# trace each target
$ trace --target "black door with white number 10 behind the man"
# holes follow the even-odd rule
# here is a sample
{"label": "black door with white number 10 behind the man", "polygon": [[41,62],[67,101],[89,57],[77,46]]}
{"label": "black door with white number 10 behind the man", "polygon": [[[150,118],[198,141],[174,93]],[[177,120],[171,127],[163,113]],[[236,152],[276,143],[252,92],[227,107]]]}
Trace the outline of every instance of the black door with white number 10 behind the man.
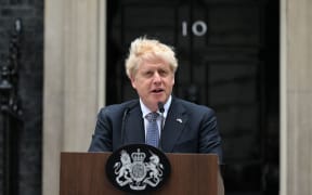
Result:
{"label": "black door with white number 10 behind the man", "polygon": [[129,43],[176,48],[174,95],[217,112],[226,194],[278,192],[278,1],[110,0],[107,104],[136,98],[125,74]]}

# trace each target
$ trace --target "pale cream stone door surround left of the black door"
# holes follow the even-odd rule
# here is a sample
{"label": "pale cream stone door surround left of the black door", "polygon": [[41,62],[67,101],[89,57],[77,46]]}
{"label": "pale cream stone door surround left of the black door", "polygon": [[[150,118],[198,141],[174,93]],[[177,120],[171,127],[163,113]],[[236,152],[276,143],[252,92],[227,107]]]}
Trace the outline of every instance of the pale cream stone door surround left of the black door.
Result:
{"label": "pale cream stone door surround left of the black door", "polygon": [[105,102],[105,0],[44,2],[43,192],[58,194],[61,152],[87,152]]}

